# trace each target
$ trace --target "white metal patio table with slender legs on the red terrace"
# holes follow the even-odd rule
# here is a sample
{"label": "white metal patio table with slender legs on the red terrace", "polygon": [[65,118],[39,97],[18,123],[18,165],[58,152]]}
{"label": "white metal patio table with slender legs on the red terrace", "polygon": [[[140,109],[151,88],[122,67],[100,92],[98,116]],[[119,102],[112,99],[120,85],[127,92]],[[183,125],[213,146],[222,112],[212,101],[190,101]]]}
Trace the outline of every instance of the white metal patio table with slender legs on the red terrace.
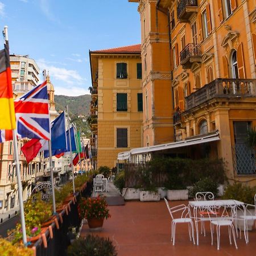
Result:
{"label": "white metal patio table with slender legs on the red terrace", "polygon": [[[199,234],[198,234],[198,222],[203,220],[197,216],[198,209],[209,209],[213,207],[241,207],[243,209],[244,214],[246,214],[245,204],[241,201],[237,200],[205,200],[205,201],[189,201],[189,208],[193,208],[193,217],[195,218],[195,226],[196,226],[196,244],[199,245]],[[207,218],[205,218],[207,220]],[[209,220],[209,218],[208,218]],[[246,222],[244,221],[243,232],[245,234],[245,242],[248,242],[247,238],[247,230],[246,230]]]}

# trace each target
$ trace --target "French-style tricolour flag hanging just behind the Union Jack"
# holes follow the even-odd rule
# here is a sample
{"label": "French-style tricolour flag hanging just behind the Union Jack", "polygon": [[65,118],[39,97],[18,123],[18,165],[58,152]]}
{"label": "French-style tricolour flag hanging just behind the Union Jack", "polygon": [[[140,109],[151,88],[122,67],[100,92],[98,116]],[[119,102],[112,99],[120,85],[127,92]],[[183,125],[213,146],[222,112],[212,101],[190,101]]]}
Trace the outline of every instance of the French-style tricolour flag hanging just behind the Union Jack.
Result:
{"label": "French-style tricolour flag hanging just behind the Union Jack", "polygon": [[[63,112],[51,123],[52,155],[58,155],[64,152],[63,150],[67,150],[65,134],[65,114]],[[48,143],[45,139],[31,139],[22,147],[27,162],[30,162],[41,151],[44,151],[44,157],[49,157],[48,150]]]}

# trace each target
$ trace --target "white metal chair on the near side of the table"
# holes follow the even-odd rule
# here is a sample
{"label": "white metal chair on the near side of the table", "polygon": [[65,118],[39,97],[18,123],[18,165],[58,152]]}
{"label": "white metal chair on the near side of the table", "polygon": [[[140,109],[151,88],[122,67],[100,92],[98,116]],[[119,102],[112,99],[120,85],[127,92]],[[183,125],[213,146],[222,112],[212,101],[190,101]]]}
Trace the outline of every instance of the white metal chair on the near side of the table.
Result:
{"label": "white metal chair on the near side of the table", "polygon": [[[231,209],[231,211],[230,211]],[[213,229],[214,226],[216,226],[216,236],[217,236],[217,249],[220,250],[220,228],[222,226],[228,226],[229,231],[229,242],[230,245],[232,245],[231,240],[231,232],[234,240],[234,245],[237,249],[237,242],[236,242],[236,234],[235,234],[235,228],[233,225],[234,222],[234,216],[236,214],[236,207],[235,206],[220,206],[220,205],[214,205],[213,208],[208,208],[208,216],[210,220],[210,235],[212,238],[212,245],[213,245]],[[218,212],[218,214],[216,214]],[[229,215],[231,214],[231,216]]]}

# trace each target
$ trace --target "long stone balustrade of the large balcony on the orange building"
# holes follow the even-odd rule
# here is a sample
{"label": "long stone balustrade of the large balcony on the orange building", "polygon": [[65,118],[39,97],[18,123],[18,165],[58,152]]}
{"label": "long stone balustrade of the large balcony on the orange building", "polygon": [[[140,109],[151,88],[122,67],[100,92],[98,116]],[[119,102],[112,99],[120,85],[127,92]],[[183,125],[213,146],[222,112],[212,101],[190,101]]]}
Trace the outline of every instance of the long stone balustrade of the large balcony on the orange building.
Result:
{"label": "long stone balustrade of the large balcony on the orange building", "polygon": [[256,79],[216,79],[186,97],[185,110],[216,97],[256,97]]}

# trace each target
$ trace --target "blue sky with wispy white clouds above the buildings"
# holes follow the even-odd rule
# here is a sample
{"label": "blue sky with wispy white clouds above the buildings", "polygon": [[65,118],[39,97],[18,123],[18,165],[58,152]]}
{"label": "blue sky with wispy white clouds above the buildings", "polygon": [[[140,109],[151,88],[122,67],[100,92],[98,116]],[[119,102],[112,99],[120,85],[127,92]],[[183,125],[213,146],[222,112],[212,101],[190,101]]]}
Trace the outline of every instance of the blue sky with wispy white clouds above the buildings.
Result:
{"label": "blue sky with wispy white clouds above the buildings", "polygon": [[78,96],[89,94],[89,49],[141,43],[137,8],[128,0],[0,0],[0,31],[9,27],[10,53],[49,71],[55,94]]}

